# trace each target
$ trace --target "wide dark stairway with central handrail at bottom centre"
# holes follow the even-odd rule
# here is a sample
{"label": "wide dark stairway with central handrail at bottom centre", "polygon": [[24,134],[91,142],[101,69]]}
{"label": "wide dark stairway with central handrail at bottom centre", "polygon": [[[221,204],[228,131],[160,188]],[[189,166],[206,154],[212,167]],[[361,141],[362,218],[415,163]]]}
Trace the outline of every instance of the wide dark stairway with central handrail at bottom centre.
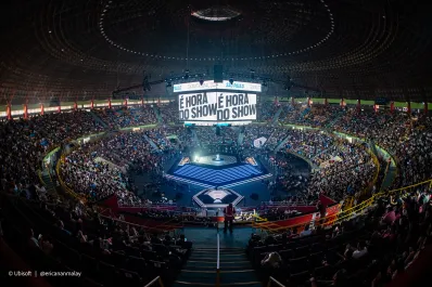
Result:
{"label": "wide dark stairway with central handrail at bottom centre", "polygon": [[[261,287],[244,248],[220,249],[220,286]],[[216,248],[194,248],[173,287],[216,286]]]}

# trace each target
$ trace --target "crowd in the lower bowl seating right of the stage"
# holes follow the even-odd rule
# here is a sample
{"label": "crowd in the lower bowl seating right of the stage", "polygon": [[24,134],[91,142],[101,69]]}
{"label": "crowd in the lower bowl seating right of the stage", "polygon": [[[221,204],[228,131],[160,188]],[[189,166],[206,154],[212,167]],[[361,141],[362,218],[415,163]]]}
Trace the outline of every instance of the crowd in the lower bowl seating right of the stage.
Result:
{"label": "crowd in the lower bowl seating right of the stage", "polygon": [[[270,157],[278,175],[277,184],[288,191],[297,191],[305,201],[317,200],[321,193],[335,199],[353,195],[367,187],[377,172],[366,147],[320,131],[277,128],[271,138],[278,145],[284,142],[279,155]],[[289,154],[307,158],[316,170],[309,178],[293,175]]]}

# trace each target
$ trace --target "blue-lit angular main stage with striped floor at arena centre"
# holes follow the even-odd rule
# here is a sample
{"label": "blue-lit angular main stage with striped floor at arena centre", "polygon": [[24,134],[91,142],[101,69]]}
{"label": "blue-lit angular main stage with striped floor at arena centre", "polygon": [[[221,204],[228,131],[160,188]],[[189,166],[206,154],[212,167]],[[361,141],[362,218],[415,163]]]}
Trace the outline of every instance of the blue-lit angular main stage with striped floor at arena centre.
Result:
{"label": "blue-lit angular main stage with striped floor at arena centre", "polygon": [[[200,160],[182,166],[175,165],[165,177],[204,187],[231,187],[271,177],[263,166],[238,162],[233,156],[220,155],[224,160],[214,165],[212,164],[215,161],[213,160],[215,158],[214,155],[201,158],[205,158],[203,160],[205,164]],[[219,165],[225,159],[231,164]],[[185,162],[185,160],[181,159],[180,162]]]}

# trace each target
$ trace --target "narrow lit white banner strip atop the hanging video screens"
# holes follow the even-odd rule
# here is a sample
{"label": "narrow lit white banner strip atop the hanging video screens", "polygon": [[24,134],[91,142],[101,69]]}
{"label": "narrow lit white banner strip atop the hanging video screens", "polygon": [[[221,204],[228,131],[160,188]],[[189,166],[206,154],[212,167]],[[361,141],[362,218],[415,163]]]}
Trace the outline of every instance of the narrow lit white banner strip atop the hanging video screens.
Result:
{"label": "narrow lit white banner strip atop the hanging video screens", "polygon": [[199,81],[194,82],[185,82],[174,84],[174,92],[192,92],[192,91],[204,91],[204,90],[234,90],[234,91],[250,91],[250,92],[261,92],[262,87],[261,83],[256,82],[243,82],[243,81],[233,81],[230,83],[225,80],[223,82],[214,82],[213,80],[204,81],[201,84]]}

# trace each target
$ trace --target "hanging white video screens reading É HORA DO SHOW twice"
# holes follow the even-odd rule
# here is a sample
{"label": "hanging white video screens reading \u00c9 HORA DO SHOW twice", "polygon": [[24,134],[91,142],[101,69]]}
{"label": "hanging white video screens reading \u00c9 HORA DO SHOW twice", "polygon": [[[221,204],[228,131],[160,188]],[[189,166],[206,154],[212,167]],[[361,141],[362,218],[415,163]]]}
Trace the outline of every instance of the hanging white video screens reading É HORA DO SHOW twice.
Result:
{"label": "hanging white video screens reading \u00c9 HORA DO SHOW twice", "polygon": [[179,95],[182,121],[256,120],[256,94],[201,92]]}

